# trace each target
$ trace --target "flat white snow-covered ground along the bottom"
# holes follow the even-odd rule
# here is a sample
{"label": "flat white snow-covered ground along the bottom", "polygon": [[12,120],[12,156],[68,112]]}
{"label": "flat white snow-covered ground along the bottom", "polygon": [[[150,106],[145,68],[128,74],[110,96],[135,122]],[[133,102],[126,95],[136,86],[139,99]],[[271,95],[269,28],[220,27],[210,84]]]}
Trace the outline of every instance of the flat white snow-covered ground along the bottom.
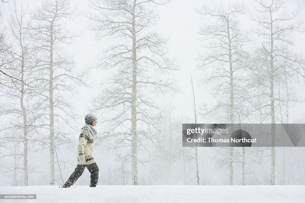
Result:
{"label": "flat white snow-covered ground along the bottom", "polygon": [[305,186],[27,186],[0,187],[0,194],[37,194],[36,200],[0,202],[107,203],[297,203],[305,202]]}

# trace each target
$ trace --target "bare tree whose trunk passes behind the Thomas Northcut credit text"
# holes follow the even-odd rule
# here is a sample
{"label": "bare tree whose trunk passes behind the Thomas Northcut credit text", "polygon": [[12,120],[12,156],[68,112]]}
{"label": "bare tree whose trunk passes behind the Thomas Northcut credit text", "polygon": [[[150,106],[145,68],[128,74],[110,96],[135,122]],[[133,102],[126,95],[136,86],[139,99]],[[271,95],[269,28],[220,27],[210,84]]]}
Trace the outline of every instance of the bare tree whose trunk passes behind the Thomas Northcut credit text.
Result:
{"label": "bare tree whose trunk passes behind the Thomas Northcut credit text", "polygon": [[[231,3],[228,8],[224,5],[202,6],[197,12],[205,19],[205,25],[200,28],[201,40],[206,43],[206,51],[199,54],[198,70],[202,71],[202,84],[214,84],[213,95],[220,95],[218,103],[202,114],[218,115],[221,122],[233,124],[235,105],[243,97],[246,89],[243,72],[246,70],[246,49],[249,42],[246,31],[240,30],[237,17],[246,13],[244,3]],[[208,20],[209,19],[209,20]],[[207,23],[210,22],[210,23]],[[226,102],[228,101],[228,102]],[[240,103],[241,105],[242,103]],[[228,119],[226,119],[228,118]],[[230,131],[234,131],[230,128]],[[229,148],[230,157],[234,155],[234,148]],[[229,184],[233,184],[233,160],[229,162]]]}

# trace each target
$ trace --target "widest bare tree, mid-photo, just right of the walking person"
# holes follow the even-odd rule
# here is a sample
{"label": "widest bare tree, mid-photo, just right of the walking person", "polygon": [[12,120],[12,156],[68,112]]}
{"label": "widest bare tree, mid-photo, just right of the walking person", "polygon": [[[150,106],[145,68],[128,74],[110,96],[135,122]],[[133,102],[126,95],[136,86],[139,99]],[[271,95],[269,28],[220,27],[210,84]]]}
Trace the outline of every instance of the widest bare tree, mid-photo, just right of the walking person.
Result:
{"label": "widest bare tree, mid-photo, just right of the walking person", "polygon": [[124,159],[131,159],[132,185],[138,185],[138,149],[144,148],[145,140],[155,143],[152,138],[159,131],[157,95],[176,91],[171,78],[172,71],[178,68],[166,57],[167,40],[149,30],[157,19],[153,7],[166,3],[159,0],[89,3],[92,8],[87,15],[92,20],[89,29],[96,31],[97,39],[109,37],[117,42],[105,51],[106,56],[99,58],[98,67],[114,74],[109,82],[104,82],[105,89],[93,103],[96,109],[109,113],[103,119],[109,126],[105,138],[115,138],[116,146],[131,148]]}

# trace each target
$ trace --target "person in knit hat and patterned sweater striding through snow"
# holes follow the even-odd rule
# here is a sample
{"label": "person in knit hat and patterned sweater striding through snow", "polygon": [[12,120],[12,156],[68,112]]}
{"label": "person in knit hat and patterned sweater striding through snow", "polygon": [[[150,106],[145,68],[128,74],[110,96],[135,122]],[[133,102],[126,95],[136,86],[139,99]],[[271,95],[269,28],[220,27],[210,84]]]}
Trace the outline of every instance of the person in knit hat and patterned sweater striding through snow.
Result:
{"label": "person in knit hat and patterned sweater striding through snow", "polygon": [[81,128],[81,135],[79,136],[79,143],[77,146],[78,157],[77,166],[74,172],[70,175],[68,180],[63,184],[62,187],[70,187],[73,185],[81,174],[83,174],[85,167],[91,173],[90,175],[90,187],[96,187],[99,180],[99,167],[96,165],[93,154],[93,140],[97,134],[93,128],[96,126],[97,118],[94,114],[87,114],[85,116],[85,125]]}

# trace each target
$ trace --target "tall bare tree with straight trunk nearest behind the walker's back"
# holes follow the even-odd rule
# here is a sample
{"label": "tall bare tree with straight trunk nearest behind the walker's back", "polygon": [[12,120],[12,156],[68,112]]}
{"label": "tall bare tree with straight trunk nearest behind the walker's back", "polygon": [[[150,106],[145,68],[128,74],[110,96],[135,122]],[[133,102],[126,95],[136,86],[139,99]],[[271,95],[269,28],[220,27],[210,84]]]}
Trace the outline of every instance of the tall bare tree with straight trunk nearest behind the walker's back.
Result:
{"label": "tall bare tree with straight trunk nearest behind the walker's back", "polygon": [[[46,128],[48,121],[49,136],[43,142],[48,143],[50,149],[50,185],[55,184],[55,147],[70,143],[68,135],[75,131],[69,122],[75,118],[69,96],[73,96],[77,85],[85,85],[84,75],[75,73],[72,57],[63,51],[63,44],[72,43],[78,36],[65,29],[67,19],[75,17],[74,11],[67,0],[43,1],[42,7],[35,12],[32,26],[32,35],[41,51],[41,75],[47,84],[36,94],[41,98],[37,103],[41,115],[39,125]],[[69,129],[63,128],[64,125]]]}

